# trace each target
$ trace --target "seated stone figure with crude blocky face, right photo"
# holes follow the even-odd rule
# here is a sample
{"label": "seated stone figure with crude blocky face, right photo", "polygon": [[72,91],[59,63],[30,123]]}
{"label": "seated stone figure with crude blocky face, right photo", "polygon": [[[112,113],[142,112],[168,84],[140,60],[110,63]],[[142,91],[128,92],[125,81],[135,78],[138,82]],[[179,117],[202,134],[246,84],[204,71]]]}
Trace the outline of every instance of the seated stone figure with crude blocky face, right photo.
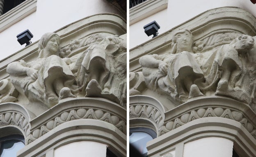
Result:
{"label": "seated stone figure with crude blocky face, right photo", "polygon": [[204,75],[192,55],[192,33],[187,29],[177,31],[172,41],[171,53],[139,59],[146,84],[172,97],[178,96],[181,102],[188,97],[203,96],[197,84],[204,81]]}

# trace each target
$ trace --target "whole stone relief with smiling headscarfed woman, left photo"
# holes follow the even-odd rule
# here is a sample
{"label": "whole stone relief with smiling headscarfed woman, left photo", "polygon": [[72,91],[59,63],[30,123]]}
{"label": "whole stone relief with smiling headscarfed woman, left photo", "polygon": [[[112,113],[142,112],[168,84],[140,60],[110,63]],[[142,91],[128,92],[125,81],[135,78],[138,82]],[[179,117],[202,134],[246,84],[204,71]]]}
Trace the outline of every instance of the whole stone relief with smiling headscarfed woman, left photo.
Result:
{"label": "whole stone relief with smiling headscarfed woman, left photo", "polygon": [[103,97],[126,104],[126,35],[97,33],[60,48],[60,37],[46,33],[39,56],[7,66],[10,82],[30,102],[54,106],[65,98]]}

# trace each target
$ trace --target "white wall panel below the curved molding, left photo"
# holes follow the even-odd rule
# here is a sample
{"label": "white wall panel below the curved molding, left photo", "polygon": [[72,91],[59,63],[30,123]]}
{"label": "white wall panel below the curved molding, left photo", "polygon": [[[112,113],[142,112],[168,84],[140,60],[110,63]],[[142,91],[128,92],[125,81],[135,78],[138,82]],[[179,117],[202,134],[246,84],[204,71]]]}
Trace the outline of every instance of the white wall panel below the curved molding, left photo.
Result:
{"label": "white wall panel below the curved molding, left photo", "polygon": [[72,142],[55,149],[54,157],[105,157],[106,153],[106,144],[80,141]]}

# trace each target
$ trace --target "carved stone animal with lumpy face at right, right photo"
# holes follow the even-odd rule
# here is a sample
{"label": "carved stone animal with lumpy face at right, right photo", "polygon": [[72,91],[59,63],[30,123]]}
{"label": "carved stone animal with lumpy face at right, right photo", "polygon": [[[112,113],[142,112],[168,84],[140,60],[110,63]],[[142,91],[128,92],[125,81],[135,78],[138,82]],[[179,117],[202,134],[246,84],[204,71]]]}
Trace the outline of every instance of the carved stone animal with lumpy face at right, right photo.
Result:
{"label": "carved stone animal with lumpy face at right, right photo", "polygon": [[250,102],[249,50],[253,46],[253,37],[241,35],[231,44],[222,45],[217,50],[211,69],[214,78],[212,82],[219,80],[216,95],[227,95],[235,99],[239,99],[238,95],[242,95],[242,101]]}

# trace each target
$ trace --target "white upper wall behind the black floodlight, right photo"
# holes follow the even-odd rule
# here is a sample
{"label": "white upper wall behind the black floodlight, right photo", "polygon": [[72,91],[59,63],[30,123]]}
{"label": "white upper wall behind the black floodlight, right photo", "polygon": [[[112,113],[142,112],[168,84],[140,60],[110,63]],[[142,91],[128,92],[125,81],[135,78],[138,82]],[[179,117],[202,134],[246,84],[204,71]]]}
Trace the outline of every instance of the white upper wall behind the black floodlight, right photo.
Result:
{"label": "white upper wall behind the black floodlight, right photo", "polygon": [[166,10],[130,25],[130,49],[152,38],[147,37],[143,26],[153,20],[160,25],[158,32],[161,34],[204,11],[219,7],[240,7],[256,16],[256,4],[250,0],[169,0]]}

